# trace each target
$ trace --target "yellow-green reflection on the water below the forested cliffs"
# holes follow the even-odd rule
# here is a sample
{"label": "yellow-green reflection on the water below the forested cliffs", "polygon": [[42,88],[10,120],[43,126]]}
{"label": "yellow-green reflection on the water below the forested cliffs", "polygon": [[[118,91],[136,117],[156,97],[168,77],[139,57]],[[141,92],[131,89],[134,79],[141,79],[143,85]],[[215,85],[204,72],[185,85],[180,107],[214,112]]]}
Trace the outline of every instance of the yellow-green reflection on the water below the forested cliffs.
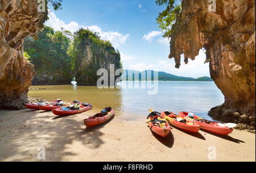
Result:
{"label": "yellow-green reflection on the water below the forested cliffs", "polygon": [[120,89],[100,90],[97,86],[31,86],[31,88],[47,88],[47,90],[30,90],[29,96],[49,101],[57,98],[65,101],[79,100],[92,103],[93,109],[101,111],[105,107],[113,107],[116,112],[122,109],[122,92]]}

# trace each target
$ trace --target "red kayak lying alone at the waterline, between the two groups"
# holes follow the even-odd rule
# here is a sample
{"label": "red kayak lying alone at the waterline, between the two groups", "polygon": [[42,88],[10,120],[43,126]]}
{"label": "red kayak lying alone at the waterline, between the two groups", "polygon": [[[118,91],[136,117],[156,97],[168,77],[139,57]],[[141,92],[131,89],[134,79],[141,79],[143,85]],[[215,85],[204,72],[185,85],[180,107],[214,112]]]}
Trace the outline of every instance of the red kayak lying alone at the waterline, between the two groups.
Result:
{"label": "red kayak lying alone at the waterline, between the two groups", "polygon": [[114,115],[115,115],[114,110],[110,108],[106,112],[97,113],[96,115],[89,117],[88,119],[85,119],[84,124],[88,126],[88,128],[91,128],[98,124],[105,123]]}

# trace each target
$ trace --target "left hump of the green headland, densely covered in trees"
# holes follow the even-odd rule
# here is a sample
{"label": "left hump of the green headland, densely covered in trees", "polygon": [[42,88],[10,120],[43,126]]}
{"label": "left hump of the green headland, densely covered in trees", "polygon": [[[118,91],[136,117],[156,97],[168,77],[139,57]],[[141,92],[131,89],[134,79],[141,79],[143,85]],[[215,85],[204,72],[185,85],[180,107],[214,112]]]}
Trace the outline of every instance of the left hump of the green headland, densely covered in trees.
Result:
{"label": "left hump of the green headland, densely covered in trees", "polygon": [[[24,50],[30,56],[30,61],[35,65],[36,78],[51,78],[51,82],[61,83],[70,81],[71,57],[67,50],[71,42],[63,32],[54,31],[45,26],[38,33],[39,40],[27,37],[24,41]],[[40,81],[40,83],[49,82]]]}

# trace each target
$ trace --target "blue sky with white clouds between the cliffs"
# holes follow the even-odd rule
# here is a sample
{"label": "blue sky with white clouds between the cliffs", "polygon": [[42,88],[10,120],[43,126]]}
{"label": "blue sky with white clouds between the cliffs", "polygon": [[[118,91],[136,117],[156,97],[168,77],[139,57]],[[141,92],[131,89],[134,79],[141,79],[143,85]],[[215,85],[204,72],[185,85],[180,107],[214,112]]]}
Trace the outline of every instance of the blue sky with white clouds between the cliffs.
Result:
{"label": "blue sky with white clouds between the cliffs", "polygon": [[188,65],[182,62],[180,69],[175,69],[174,59],[168,59],[170,45],[156,24],[163,9],[155,0],[64,0],[63,9],[52,11],[46,24],[56,30],[64,27],[75,32],[84,27],[99,32],[121,52],[125,69],[152,69],[194,78],[209,76],[203,51]]}

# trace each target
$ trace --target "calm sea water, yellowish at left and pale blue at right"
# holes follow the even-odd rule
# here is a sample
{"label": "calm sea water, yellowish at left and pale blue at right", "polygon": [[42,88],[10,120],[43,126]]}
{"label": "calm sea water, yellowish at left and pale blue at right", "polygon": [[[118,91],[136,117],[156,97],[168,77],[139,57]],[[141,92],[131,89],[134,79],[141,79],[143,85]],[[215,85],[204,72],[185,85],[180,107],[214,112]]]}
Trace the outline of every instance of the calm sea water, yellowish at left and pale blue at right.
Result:
{"label": "calm sea water, yellowish at left and pale blue at right", "polygon": [[210,108],[224,103],[224,96],[214,82],[159,82],[158,94],[148,95],[147,89],[126,88],[141,82],[121,82],[120,89],[98,89],[96,86],[32,86],[31,88],[47,88],[47,90],[30,90],[29,96],[47,100],[92,103],[94,109],[111,106],[123,119],[144,119],[148,109],[155,111],[193,112],[210,119],[207,115]]}

